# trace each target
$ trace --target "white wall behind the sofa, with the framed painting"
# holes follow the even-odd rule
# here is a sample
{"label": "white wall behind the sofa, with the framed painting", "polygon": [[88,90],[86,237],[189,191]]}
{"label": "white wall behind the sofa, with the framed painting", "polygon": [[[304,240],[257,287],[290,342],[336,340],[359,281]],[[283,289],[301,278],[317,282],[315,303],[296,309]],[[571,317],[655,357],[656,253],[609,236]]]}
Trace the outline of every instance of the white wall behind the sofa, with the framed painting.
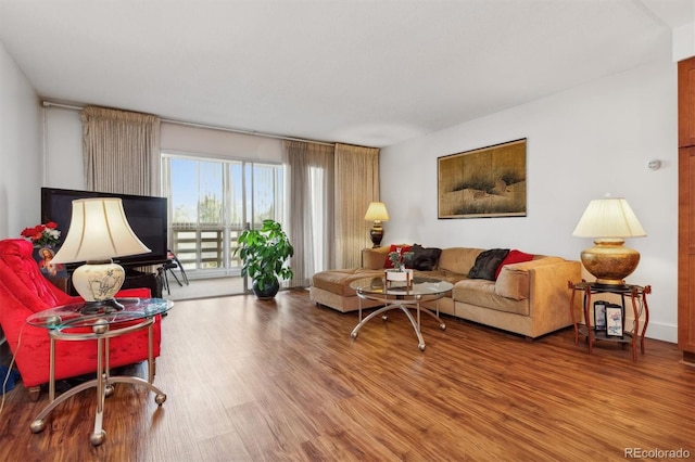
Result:
{"label": "white wall behind the sofa, with the framed painting", "polygon": [[[668,53],[668,55],[667,55]],[[384,242],[509,247],[579,259],[571,235],[589,201],[628,198],[647,232],[628,279],[650,284],[647,336],[675,343],[678,260],[677,65],[661,62],[593,81],[381,152]],[[527,145],[527,217],[439,220],[437,157],[520,138]],[[653,171],[647,162],[660,159]]]}

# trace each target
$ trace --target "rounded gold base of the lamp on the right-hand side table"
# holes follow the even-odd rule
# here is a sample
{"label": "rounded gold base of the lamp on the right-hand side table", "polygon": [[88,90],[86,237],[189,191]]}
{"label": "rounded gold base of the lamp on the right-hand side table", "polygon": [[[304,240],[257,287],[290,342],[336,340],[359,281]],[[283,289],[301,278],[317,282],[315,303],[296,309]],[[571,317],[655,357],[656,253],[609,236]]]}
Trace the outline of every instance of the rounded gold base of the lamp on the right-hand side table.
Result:
{"label": "rounded gold base of the lamp on the right-hand side table", "polygon": [[581,254],[582,265],[596,278],[596,284],[623,286],[627,277],[637,268],[640,253],[626,247],[622,239],[597,239]]}

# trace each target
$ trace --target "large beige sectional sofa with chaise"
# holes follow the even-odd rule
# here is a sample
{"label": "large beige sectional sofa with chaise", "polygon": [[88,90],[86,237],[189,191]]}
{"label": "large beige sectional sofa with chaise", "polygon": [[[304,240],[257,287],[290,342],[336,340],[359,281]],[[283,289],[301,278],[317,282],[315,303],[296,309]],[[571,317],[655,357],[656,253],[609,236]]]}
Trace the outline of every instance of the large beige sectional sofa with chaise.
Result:
{"label": "large beige sectional sofa with chaise", "polygon": [[[568,281],[581,280],[581,264],[560,257],[535,255],[531,261],[505,265],[495,281],[469,279],[468,273],[481,248],[442,249],[432,277],[454,284],[439,300],[440,312],[535,338],[571,325]],[[309,288],[316,304],[348,312],[380,306],[357,297],[351,282],[383,274],[389,247],[363,251],[363,268],[328,270],[314,274]],[[580,297],[574,309],[580,311]],[[433,308],[433,303],[431,304]]]}

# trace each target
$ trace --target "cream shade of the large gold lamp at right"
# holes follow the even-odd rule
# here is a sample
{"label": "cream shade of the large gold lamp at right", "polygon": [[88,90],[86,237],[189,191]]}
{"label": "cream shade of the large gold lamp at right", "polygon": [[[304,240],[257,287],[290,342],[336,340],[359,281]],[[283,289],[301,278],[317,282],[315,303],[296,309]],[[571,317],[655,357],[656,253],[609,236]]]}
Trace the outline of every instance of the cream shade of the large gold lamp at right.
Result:
{"label": "cream shade of the large gold lamp at right", "polygon": [[644,238],[647,233],[622,197],[591,201],[572,235],[578,238]]}

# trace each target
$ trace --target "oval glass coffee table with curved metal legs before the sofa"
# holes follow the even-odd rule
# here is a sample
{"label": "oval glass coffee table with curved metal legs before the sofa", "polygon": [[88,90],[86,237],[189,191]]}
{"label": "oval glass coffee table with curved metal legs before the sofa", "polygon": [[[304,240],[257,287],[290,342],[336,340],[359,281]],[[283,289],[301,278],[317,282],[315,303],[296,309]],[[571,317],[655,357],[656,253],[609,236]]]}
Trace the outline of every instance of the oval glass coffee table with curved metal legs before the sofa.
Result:
{"label": "oval glass coffee table with curved metal legs before the sofa", "polygon": [[[417,335],[420,351],[425,351],[425,339],[420,331],[420,312],[426,312],[434,318],[442,331],[446,329],[446,324],[439,317],[439,305],[437,305],[435,312],[432,312],[421,304],[422,301],[437,301],[442,298],[448,291],[454,288],[451,282],[415,277],[410,285],[407,285],[405,281],[389,281],[387,284],[386,278],[363,278],[353,281],[350,286],[355,290],[361,301],[362,299],[369,299],[384,304],[383,307],[370,312],[364,319],[362,318],[362,303],[359,304],[359,323],[350,334],[353,338],[357,338],[359,330],[370,319],[381,315],[381,319],[387,321],[388,317],[383,313],[392,309],[402,310],[410,320],[415,335]],[[415,318],[410,309],[415,309]]]}

